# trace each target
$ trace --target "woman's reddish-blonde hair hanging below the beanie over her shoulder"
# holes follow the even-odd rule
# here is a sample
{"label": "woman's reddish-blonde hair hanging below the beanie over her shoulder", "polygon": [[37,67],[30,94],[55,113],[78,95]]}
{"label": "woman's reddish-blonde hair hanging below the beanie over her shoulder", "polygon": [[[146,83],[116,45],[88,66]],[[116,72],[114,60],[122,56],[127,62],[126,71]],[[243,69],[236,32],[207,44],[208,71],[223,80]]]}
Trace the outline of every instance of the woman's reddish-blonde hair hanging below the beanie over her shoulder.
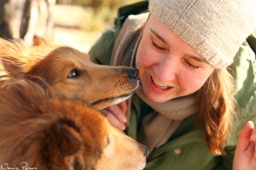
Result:
{"label": "woman's reddish-blonde hair hanging below the beanie over her shoulder", "polygon": [[213,155],[224,155],[225,140],[234,116],[234,81],[227,71],[215,70],[199,90],[199,112],[195,124],[201,126]]}

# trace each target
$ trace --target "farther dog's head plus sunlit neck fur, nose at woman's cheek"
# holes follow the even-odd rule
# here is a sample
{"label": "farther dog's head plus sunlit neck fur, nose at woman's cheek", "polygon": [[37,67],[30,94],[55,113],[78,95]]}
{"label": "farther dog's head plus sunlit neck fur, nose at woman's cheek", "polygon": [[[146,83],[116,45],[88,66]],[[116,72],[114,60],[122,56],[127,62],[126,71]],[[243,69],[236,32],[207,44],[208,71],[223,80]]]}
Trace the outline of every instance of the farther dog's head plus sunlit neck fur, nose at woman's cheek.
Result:
{"label": "farther dog's head plus sunlit neck fur, nose at woman's cheek", "polygon": [[15,77],[19,72],[26,77],[41,77],[62,99],[102,109],[128,99],[138,87],[137,69],[96,65],[88,54],[74,48],[53,48],[38,38],[32,48],[6,40],[0,45],[4,46],[0,50],[2,70]]}

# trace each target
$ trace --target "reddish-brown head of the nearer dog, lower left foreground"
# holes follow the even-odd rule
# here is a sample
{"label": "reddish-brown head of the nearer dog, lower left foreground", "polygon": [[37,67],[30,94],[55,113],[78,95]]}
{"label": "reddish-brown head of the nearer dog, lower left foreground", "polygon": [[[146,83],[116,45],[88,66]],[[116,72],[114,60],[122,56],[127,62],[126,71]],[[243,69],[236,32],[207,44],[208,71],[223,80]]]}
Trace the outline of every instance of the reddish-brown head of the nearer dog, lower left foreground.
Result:
{"label": "reddish-brown head of the nearer dog, lower left foreground", "polygon": [[[147,149],[95,109],[49,99],[38,83],[0,90],[0,164],[46,170],[140,170]],[[23,163],[22,163],[23,162]]]}

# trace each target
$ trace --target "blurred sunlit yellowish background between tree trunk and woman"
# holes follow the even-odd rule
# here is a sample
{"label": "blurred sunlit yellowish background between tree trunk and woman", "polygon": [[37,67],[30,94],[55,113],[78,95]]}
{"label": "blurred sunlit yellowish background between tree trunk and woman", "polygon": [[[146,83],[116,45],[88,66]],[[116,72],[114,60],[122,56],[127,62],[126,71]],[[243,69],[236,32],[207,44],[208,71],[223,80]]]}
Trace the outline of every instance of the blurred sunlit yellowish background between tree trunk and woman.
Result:
{"label": "blurred sunlit yellowish background between tree trunk and woman", "polygon": [[53,10],[52,42],[64,42],[87,52],[101,32],[113,26],[118,8],[136,2],[138,0],[59,0]]}

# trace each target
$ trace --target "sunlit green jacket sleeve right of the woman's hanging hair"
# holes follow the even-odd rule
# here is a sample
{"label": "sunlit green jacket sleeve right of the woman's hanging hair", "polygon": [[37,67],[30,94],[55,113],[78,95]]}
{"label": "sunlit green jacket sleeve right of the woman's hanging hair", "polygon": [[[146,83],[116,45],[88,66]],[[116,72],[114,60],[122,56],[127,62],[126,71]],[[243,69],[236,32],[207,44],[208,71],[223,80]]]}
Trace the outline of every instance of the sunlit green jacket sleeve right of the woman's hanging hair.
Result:
{"label": "sunlit green jacket sleeve right of the woman's hanging hair", "polygon": [[[253,39],[251,39],[252,41]],[[252,44],[255,45],[255,39]],[[256,46],[255,46],[256,47]],[[221,163],[217,170],[232,169],[233,158],[235,155],[236,144],[241,128],[244,127],[248,120],[256,123],[256,79],[255,64],[253,60],[255,54],[253,48],[244,42],[236,54],[234,63],[230,65],[236,84],[236,117],[234,117],[233,129],[230,139],[227,141],[226,156],[221,156]]]}

